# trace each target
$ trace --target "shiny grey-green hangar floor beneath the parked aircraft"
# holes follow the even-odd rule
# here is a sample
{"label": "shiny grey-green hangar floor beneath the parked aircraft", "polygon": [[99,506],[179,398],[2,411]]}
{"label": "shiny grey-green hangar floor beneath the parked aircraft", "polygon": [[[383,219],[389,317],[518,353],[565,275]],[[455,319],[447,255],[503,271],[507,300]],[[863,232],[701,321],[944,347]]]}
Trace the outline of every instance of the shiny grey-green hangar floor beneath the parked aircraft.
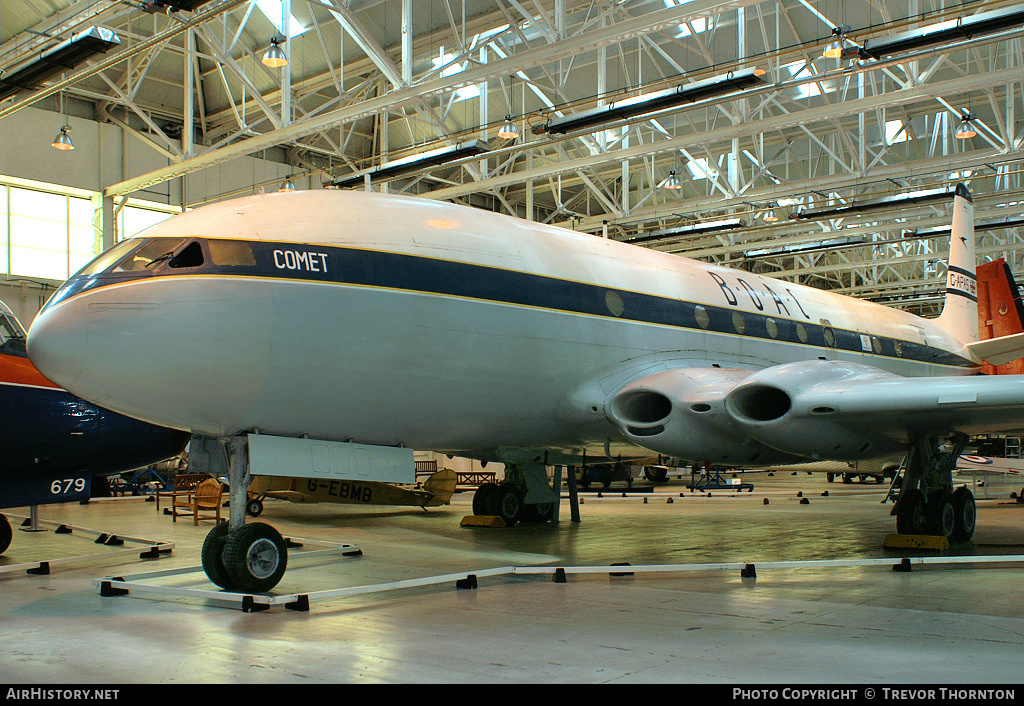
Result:
{"label": "shiny grey-green hangar floor beneath the parked aircraft", "polygon": [[[261,521],[286,536],[348,542],[355,557],[292,552],[275,592],[377,584],[495,567],[765,563],[936,555],[891,551],[885,488],[827,484],[823,473],[746,474],[753,493],[584,494],[580,524],[464,528],[471,494],[431,509],[294,505]],[[948,555],[1024,554],[1020,481],[979,492],[973,545]],[[827,497],[821,493],[828,491]],[[801,504],[798,492],[809,500]],[[679,497],[683,493],[684,497]],[[646,502],[644,502],[646,498]],[[765,504],[765,499],[769,504]],[[670,502],[670,499],[672,502]],[[14,508],[8,514],[27,514]],[[1002,683],[1020,680],[1022,565],[759,569],[480,578],[317,600],[307,613],[243,613],[178,596],[102,597],[99,577],[194,567],[210,529],[172,523],[141,500],[41,508],[41,517],[175,543],[158,560],[91,536],[15,531],[0,570],[74,554],[49,576],[0,574],[7,683],[701,682]],[[12,524],[15,524],[12,522]],[[309,545],[310,547],[312,545]],[[212,588],[199,574],[160,585]]]}

